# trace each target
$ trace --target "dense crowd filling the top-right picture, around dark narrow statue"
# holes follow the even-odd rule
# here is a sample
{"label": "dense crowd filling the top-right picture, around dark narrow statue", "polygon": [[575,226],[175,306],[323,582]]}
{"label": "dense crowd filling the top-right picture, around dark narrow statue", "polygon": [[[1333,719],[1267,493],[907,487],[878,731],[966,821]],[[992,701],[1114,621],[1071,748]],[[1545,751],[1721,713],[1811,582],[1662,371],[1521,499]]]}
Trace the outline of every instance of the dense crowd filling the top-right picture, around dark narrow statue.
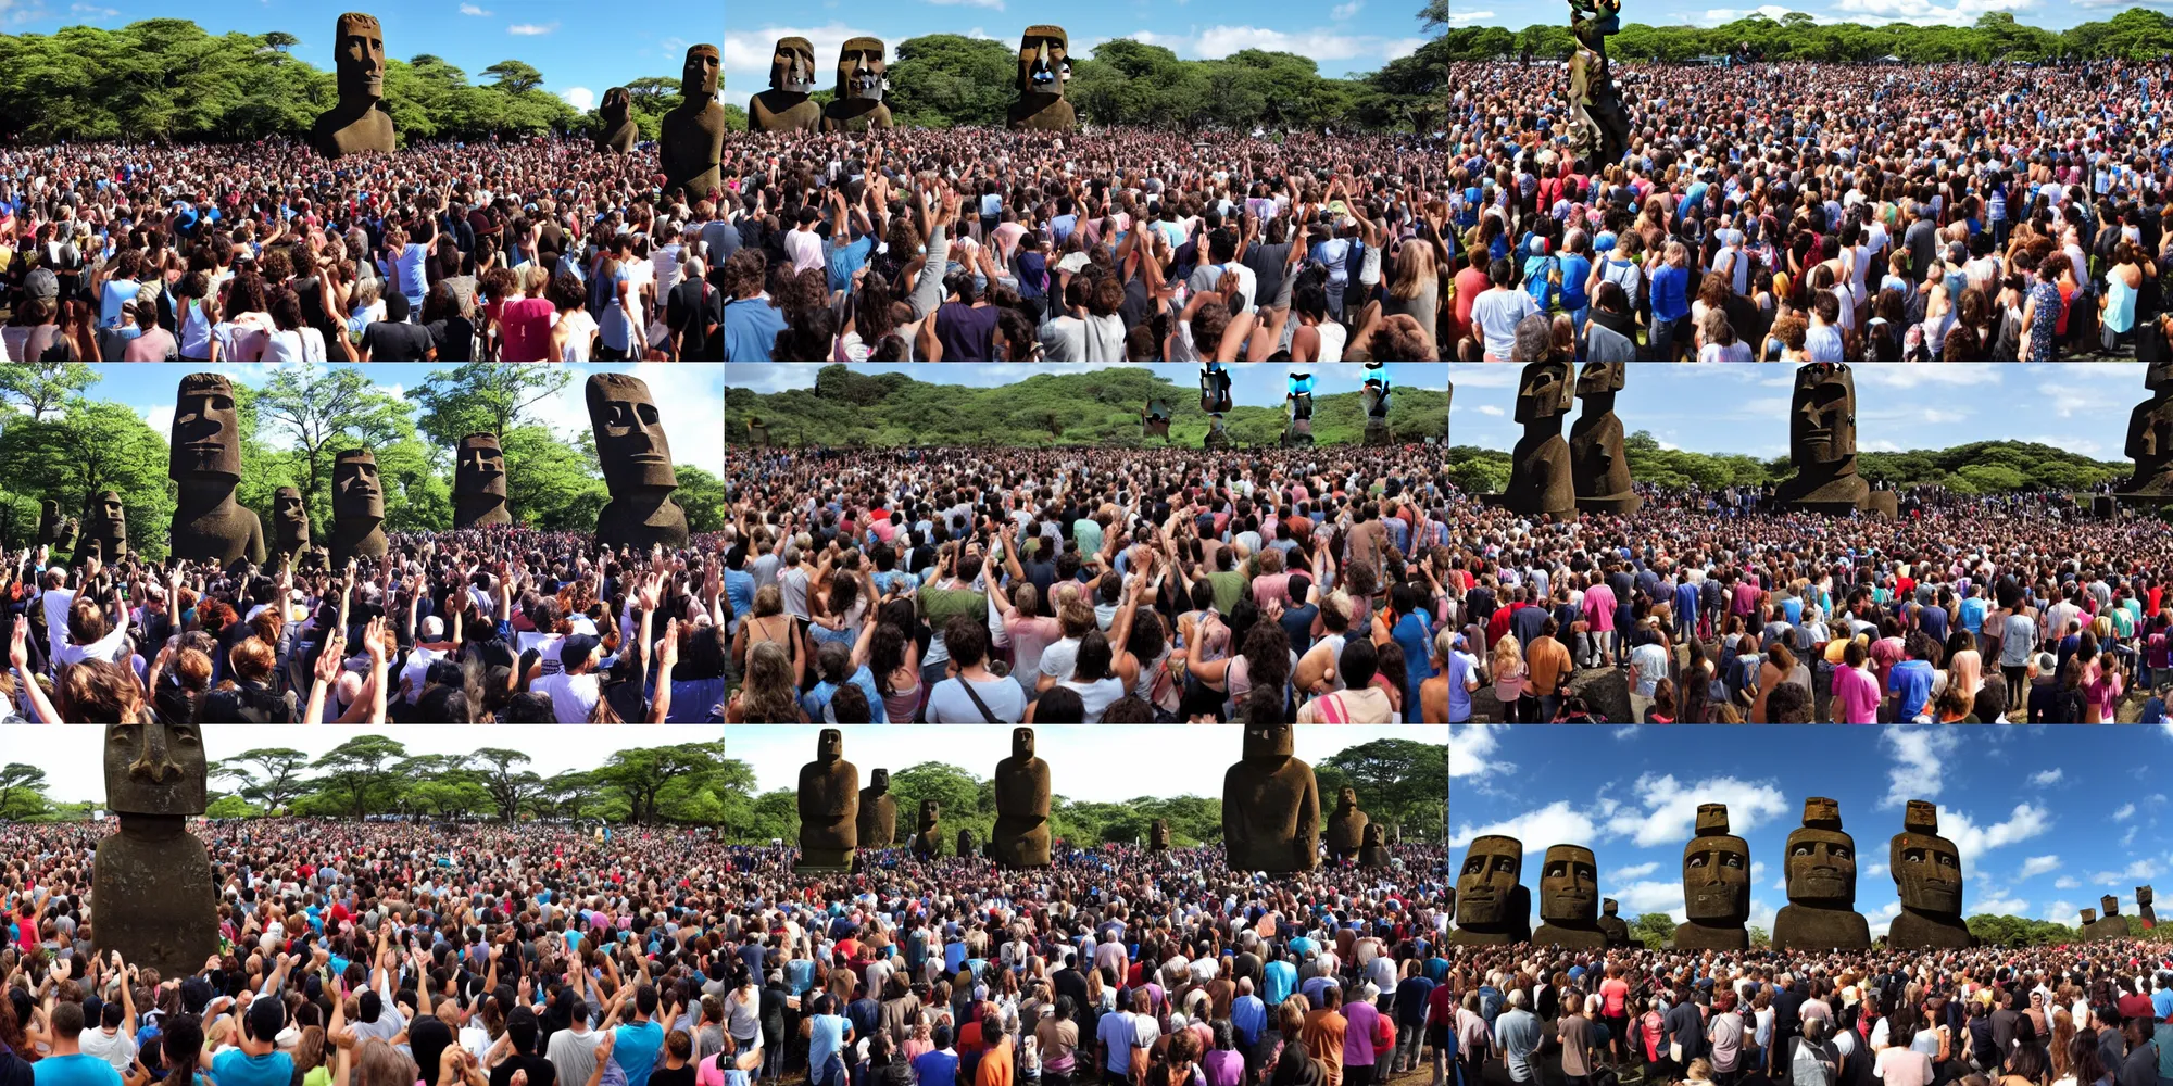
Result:
{"label": "dense crowd filling the top-right picture, around dark narrow statue", "polygon": [[2164,356],[2173,63],[1610,67],[1447,67],[1445,358]]}

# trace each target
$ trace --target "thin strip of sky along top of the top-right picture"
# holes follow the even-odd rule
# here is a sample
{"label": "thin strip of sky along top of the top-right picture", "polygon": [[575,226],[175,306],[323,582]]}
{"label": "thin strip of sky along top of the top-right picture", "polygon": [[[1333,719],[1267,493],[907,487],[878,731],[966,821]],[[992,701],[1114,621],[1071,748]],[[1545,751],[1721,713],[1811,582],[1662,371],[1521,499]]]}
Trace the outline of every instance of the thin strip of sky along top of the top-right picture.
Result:
{"label": "thin strip of sky along top of the top-right picture", "polygon": [[[2110,20],[2130,7],[2156,7],[2134,0],[1832,0],[1817,4],[1756,4],[1756,7],[1701,7],[1693,0],[1645,0],[1623,11],[1623,22],[1651,26],[1719,26],[1745,15],[1767,15],[1780,20],[1791,11],[1801,11],[1819,22],[1860,22],[1877,26],[1884,22],[1912,22],[1919,26],[1949,24],[1969,26],[1977,15],[2006,11],[2014,22],[2067,30],[2080,22]],[[1449,4],[1452,26],[1508,26],[1523,30],[1534,22],[1567,22],[1552,9],[1532,9],[1506,0],[1456,0]]]}

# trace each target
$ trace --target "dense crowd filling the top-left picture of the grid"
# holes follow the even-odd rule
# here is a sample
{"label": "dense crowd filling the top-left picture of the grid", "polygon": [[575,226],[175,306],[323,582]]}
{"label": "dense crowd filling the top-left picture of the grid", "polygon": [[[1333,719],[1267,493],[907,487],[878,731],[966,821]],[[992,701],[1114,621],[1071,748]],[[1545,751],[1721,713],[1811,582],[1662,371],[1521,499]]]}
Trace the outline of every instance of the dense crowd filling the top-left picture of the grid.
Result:
{"label": "dense crowd filling the top-left picture of the grid", "polygon": [[734,222],[658,185],[558,139],[0,150],[0,363],[721,361]]}

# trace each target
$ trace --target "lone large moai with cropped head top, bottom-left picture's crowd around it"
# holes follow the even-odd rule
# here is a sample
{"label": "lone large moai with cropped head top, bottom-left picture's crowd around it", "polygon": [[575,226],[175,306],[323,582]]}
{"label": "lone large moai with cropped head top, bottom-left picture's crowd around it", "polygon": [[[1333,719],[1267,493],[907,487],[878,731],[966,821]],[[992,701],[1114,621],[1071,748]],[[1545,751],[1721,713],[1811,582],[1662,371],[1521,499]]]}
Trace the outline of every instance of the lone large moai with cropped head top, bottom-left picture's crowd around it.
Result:
{"label": "lone large moai with cropped head top, bottom-left picture's crowd around it", "polygon": [[120,832],[98,843],[98,951],[187,977],[219,949],[217,888],[204,843],[204,741],[187,723],[106,725],[106,810]]}

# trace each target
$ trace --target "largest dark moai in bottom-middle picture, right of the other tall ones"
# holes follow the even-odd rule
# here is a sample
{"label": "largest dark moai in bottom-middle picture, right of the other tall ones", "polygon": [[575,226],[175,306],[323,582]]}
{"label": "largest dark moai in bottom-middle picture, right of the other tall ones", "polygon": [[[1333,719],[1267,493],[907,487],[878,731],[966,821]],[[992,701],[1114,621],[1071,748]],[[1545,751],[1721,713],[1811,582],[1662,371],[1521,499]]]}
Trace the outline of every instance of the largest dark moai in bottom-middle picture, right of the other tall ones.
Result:
{"label": "largest dark moai in bottom-middle picture, right of the other tall ones", "polygon": [[1321,788],[1293,758],[1289,723],[1247,723],[1245,754],[1223,773],[1223,849],[1232,871],[1284,875],[1321,862]]}

